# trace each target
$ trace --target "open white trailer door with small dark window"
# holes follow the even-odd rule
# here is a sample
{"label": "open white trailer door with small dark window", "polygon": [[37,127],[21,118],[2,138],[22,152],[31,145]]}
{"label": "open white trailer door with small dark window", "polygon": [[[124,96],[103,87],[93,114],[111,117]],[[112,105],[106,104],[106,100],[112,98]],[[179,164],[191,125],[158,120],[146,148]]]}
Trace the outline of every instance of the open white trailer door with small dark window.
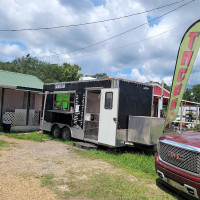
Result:
{"label": "open white trailer door with small dark window", "polygon": [[101,89],[98,142],[109,146],[116,144],[119,89]]}

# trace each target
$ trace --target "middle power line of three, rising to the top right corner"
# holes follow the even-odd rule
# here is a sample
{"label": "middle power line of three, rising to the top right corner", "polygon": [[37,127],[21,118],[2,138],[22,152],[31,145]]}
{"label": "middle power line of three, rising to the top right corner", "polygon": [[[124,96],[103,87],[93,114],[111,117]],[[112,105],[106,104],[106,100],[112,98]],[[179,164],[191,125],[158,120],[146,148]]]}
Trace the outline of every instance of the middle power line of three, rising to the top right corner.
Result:
{"label": "middle power line of three, rising to the top right corner", "polygon": [[121,36],[121,35],[124,35],[124,34],[126,34],[126,33],[129,33],[129,32],[131,32],[131,31],[133,31],[133,30],[135,30],[135,29],[138,29],[138,28],[144,26],[144,25],[147,25],[147,24],[149,24],[150,22],[155,21],[156,19],[159,19],[159,18],[161,18],[161,17],[163,17],[163,16],[165,16],[165,15],[168,15],[168,14],[170,14],[170,13],[172,13],[172,12],[174,12],[174,11],[176,11],[176,10],[178,10],[178,9],[180,9],[180,8],[182,8],[182,7],[184,7],[184,6],[188,5],[188,4],[190,4],[190,3],[192,3],[193,1],[195,1],[195,0],[191,0],[191,1],[189,1],[188,3],[185,3],[185,4],[183,4],[183,5],[181,5],[181,6],[177,7],[177,8],[175,8],[175,9],[173,9],[173,10],[171,10],[171,11],[169,11],[169,12],[163,14],[163,15],[160,15],[159,17],[156,17],[156,18],[153,18],[153,19],[151,19],[151,20],[148,20],[147,22],[145,22],[145,23],[143,23],[143,24],[140,24],[139,26],[133,27],[133,28],[131,28],[131,29],[129,29],[129,30],[126,30],[126,31],[124,31],[124,32],[122,32],[122,33],[119,33],[119,34],[117,34],[117,35],[114,35],[114,36],[112,36],[112,37],[110,37],[110,38],[107,38],[107,39],[105,39],[105,40],[96,42],[96,43],[94,43],[94,44],[91,44],[91,45],[88,45],[88,46],[85,46],[85,47],[82,47],[82,48],[79,48],[79,49],[75,49],[75,50],[72,50],[72,51],[68,51],[68,52],[65,52],[65,53],[52,54],[52,55],[49,55],[49,56],[41,56],[41,57],[37,57],[37,58],[48,58],[48,57],[52,57],[52,56],[64,55],[64,54],[68,54],[68,53],[72,53],[72,52],[76,52],[76,51],[80,51],[80,50],[84,50],[84,49],[87,49],[87,48],[96,46],[96,45],[101,44],[101,43],[104,43],[104,42],[106,42],[106,41],[108,41],[108,40],[111,40],[111,39],[114,39],[114,38],[119,37],[119,36]]}

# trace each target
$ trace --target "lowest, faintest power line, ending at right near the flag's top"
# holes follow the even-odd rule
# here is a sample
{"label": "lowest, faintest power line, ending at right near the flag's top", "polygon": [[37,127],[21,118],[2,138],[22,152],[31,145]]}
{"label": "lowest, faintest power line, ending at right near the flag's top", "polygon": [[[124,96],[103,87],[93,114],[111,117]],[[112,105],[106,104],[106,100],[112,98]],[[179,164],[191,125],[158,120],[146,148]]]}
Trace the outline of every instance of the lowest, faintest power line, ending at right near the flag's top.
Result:
{"label": "lowest, faintest power line, ending at right near the flag's top", "polygon": [[85,56],[92,56],[92,55],[96,55],[96,54],[108,53],[108,52],[111,52],[111,51],[116,51],[116,50],[119,50],[119,49],[121,49],[121,48],[125,48],[125,47],[128,47],[128,46],[134,45],[134,44],[138,44],[138,43],[141,43],[141,42],[144,42],[144,41],[153,39],[153,38],[155,38],[155,37],[158,37],[158,36],[160,36],[160,35],[163,35],[163,34],[165,34],[165,33],[168,33],[168,32],[170,32],[170,31],[173,31],[173,30],[175,30],[176,28],[179,28],[180,26],[183,26],[183,25],[187,24],[188,22],[191,22],[191,21],[196,20],[196,19],[198,19],[198,18],[199,18],[199,17],[196,17],[196,18],[194,18],[194,19],[192,19],[192,20],[189,20],[189,21],[187,21],[187,22],[185,22],[185,23],[183,23],[183,24],[180,24],[180,25],[178,25],[178,26],[176,26],[176,27],[173,27],[173,28],[171,28],[171,29],[169,29],[169,30],[167,30],[167,31],[164,31],[164,32],[162,32],[162,33],[160,33],[160,34],[157,34],[157,35],[154,35],[154,36],[152,36],[152,37],[148,37],[148,38],[145,38],[145,39],[143,39],[143,40],[139,40],[139,41],[136,41],[136,42],[133,42],[133,43],[130,43],[130,44],[122,45],[122,46],[119,46],[119,47],[117,47],[117,48],[108,49],[108,50],[104,50],[104,51],[97,51],[97,52],[90,53],[90,54],[85,54],[85,55],[80,55],[80,56],[74,56],[74,57],[69,57],[69,58],[59,59],[59,60],[70,60],[70,59],[74,59],[74,58],[80,58],[80,57],[85,57]]}

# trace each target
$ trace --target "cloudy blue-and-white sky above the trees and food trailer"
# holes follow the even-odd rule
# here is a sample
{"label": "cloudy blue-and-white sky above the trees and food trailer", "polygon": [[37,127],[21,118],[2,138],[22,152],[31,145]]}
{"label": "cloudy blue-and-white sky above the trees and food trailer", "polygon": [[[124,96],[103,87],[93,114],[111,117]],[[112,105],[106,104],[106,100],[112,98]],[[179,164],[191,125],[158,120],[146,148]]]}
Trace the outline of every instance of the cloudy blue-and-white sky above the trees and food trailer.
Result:
{"label": "cloudy blue-and-white sky above the trees and food trailer", "polygon": [[[158,17],[183,3],[143,15],[94,25],[29,32],[1,32],[0,42],[20,41],[26,44],[27,49],[23,51],[17,45],[6,46],[7,44],[0,43],[0,59],[6,61],[6,59],[14,59],[26,53],[30,53],[32,57],[41,57],[70,52],[137,27],[147,22],[147,16]],[[0,29],[37,28],[98,21],[142,12],[165,4],[169,4],[169,1],[106,0],[104,5],[95,7],[91,0],[1,0]],[[197,17],[199,10],[199,2],[194,1],[163,16],[159,24],[153,27],[145,25],[94,47],[66,55],[47,57],[44,60],[59,64],[62,62],[75,63],[80,65],[83,73],[86,74],[105,72],[109,76],[117,74],[121,77],[137,79],[140,82],[165,80],[170,84],[180,41],[192,22],[159,37],[126,48],[86,57],[79,56],[115,49],[158,35]],[[124,73],[123,70],[127,68],[133,68],[131,74]],[[200,72],[199,68],[194,68],[194,70],[195,73]],[[197,82],[191,78],[190,84],[194,83]]]}

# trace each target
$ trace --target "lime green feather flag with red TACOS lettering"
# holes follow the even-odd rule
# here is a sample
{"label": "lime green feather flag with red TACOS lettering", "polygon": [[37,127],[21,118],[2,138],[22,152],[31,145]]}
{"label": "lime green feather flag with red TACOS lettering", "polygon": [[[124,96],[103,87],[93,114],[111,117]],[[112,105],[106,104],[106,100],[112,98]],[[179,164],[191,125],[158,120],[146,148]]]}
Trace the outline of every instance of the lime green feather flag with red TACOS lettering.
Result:
{"label": "lime green feather flag with red TACOS lettering", "polygon": [[200,20],[184,34],[176,60],[165,126],[176,119],[200,46]]}

